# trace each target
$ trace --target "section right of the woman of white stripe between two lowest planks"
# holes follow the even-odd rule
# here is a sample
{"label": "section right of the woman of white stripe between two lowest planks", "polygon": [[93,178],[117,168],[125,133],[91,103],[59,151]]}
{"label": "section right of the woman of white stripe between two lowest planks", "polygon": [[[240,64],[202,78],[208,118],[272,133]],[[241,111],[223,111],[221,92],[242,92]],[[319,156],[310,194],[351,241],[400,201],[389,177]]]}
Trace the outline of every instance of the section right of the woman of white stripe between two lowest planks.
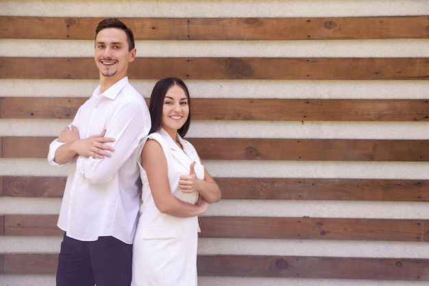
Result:
{"label": "section right of the woman of white stripe between two lowest planks", "polygon": [[322,241],[295,239],[198,239],[201,255],[291,255],[304,257],[380,257],[427,259],[421,242]]}

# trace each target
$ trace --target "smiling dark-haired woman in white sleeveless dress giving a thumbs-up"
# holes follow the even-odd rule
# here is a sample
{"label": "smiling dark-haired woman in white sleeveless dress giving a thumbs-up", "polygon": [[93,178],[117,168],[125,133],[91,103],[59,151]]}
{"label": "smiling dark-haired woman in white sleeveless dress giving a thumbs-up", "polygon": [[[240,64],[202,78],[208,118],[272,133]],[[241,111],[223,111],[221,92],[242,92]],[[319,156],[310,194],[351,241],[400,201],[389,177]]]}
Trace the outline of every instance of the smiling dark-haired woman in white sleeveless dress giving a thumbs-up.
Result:
{"label": "smiling dark-haired woman in white sleeveless dress giving a thumbs-up", "polygon": [[182,139],[191,121],[188,88],[164,78],[151,94],[152,127],[141,153],[140,218],[134,237],[132,285],[197,285],[198,217],[221,191]]}

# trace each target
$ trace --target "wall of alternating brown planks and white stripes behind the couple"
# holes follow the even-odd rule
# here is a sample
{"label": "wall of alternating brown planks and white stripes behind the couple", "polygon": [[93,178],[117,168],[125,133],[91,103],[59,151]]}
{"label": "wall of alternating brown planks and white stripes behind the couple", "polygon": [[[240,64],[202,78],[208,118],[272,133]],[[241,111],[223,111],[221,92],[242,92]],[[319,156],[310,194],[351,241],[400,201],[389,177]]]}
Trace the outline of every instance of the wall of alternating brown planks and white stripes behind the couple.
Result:
{"label": "wall of alternating brown planks and white stripes behind the couple", "polygon": [[0,1],[0,285],[55,285],[66,169],[47,143],[97,86],[93,30],[136,34],[130,80],[189,86],[223,200],[199,285],[426,285],[428,1]]}

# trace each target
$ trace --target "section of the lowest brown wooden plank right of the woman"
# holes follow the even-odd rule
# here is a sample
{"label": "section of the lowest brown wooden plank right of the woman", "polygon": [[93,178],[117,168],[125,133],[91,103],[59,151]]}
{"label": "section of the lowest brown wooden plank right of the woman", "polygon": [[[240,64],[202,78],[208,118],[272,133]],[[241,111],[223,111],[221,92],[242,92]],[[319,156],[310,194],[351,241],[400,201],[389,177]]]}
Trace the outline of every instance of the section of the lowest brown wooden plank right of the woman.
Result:
{"label": "section of the lowest brown wooden plank right of the woman", "polygon": [[429,259],[200,255],[199,276],[429,281]]}

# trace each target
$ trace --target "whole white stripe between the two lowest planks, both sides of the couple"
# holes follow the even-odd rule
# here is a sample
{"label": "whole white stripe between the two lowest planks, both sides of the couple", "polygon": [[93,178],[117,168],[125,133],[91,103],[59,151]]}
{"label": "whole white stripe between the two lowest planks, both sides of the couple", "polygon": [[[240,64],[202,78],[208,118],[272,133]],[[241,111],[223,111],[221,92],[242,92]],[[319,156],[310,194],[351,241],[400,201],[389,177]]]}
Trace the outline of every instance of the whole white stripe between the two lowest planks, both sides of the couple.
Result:
{"label": "whole white stripe between the two lowest planks, both sides of the couple", "polygon": [[[0,237],[1,253],[58,253],[62,237]],[[284,255],[427,259],[421,242],[199,238],[199,255]]]}

